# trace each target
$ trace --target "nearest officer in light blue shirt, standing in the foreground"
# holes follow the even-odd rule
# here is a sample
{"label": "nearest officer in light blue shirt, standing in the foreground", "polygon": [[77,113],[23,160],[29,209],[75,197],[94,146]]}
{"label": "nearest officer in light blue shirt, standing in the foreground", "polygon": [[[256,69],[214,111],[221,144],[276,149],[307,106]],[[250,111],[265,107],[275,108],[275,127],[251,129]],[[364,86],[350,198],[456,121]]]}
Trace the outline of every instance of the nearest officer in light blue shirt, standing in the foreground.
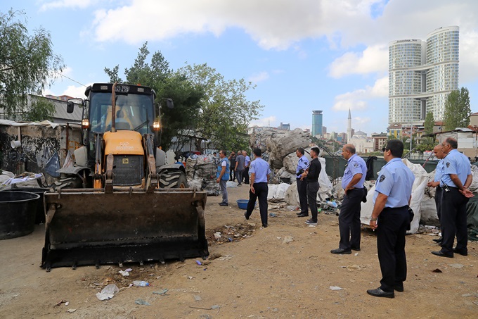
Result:
{"label": "nearest officer in light blue shirt, standing in the foreground", "polygon": [[405,234],[410,225],[408,205],[411,201],[415,176],[402,161],[403,143],[398,139],[387,142],[383,149],[387,164],[380,170],[373,194],[370,227],[377,230],[377,252],[382,280],[380,287],[367,293],[394,298],[394,290],[403,292],[406,280]]}

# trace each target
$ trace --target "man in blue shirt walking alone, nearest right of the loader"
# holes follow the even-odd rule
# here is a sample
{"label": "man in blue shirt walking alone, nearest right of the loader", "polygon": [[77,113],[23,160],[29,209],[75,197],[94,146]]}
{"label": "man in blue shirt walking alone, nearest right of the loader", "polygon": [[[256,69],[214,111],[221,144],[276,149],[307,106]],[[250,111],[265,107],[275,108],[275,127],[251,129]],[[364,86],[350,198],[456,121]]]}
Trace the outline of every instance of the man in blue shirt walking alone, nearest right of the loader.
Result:
{"label": "man in blue shirt walking alone, nearest right of the loader", "polygon": [[251,188],[249,191],[249,203],[247,203],[247,210],[244,216],[245,219],[249,219],[254,210],[256,199],[259,199],[262,227],[267,227],[267,193],[269,192],[267,183],[271,177],[271,168],[269,168],[269,163],[261,158],[261,155],[261,149],[254,149],[256,159],[250,165]]}

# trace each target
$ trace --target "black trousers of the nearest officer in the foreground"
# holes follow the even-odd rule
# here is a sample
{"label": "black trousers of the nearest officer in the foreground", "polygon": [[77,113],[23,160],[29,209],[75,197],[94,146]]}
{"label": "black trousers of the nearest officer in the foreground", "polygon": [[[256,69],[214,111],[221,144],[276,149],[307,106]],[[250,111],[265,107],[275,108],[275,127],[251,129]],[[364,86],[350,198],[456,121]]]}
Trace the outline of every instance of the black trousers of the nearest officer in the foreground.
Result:
{"label": "black trousers of the nearest officer in the foreground", "polygon": [[382,280],[380,288],[393,292],[406,280],[405,234],[410,221],[408,206],[384,208],[377,220],[377,251]]}

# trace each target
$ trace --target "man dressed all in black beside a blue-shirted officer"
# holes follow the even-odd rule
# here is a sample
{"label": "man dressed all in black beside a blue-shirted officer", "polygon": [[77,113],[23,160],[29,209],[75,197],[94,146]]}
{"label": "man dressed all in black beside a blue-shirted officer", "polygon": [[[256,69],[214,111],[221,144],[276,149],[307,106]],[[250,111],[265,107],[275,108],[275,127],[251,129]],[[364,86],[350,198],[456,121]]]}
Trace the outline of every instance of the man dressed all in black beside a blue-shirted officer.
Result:
{"label": "man dressed all in black beside a blue-shirted officer", "polygon": [[306,220],[307,225],[317,225],[317,192],[318,192],[318,175],[321,173],[322,165],[318,161],[319,154],[318,147],[312,147],[311,158],[312,161],[309,168],[302,174],[302,178],[307,180],[307,201],[309,201],[309,208],[311,210],[312,218]]}

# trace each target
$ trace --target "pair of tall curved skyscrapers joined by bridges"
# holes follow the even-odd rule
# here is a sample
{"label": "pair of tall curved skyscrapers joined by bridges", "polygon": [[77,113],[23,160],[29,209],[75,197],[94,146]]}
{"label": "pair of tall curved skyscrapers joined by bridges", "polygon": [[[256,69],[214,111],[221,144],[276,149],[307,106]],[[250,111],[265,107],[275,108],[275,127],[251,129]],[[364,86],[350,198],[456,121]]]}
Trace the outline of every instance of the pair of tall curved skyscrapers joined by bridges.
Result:
{"label": "pair of tall curved skyscrapers joined by bridges", "polygon": [[428,112],[443,120],[446,96],[458,89],[459,27],[389,43],[389,124],[421,125]]}

